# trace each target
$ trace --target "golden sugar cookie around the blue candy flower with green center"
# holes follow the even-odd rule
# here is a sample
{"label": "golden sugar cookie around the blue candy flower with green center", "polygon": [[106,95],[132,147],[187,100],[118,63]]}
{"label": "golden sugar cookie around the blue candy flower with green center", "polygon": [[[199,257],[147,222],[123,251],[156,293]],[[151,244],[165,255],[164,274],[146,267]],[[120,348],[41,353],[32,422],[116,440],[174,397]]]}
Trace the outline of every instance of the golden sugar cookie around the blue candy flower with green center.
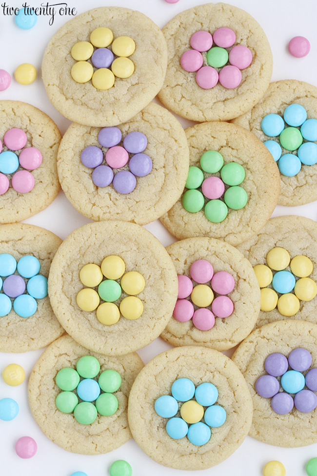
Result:
{"label": "golden sugar cookie around the blue candy flower with green center", "polygon": [[[277,114],[283,118],[285,109],[292,104],[299,104],[304,107],[307,113],[307,120],[317,120],[317,87],[296,80],[284,80],[271,83],[259,103],[243,116],[234,119],[233,122],[253,132],[261,141],[275,141],[281,146],[279,132],[276,131],[278,132],[276,136],[268,136],[264,134],[261,128],[261,122],[268,114]],[[304,117],[302,120],[304,120]],[[301,120],[299,120],[299,122],[301,122]],[[283,127],[283,121],[281,121],[281,127]],[[287,124],[286,121],[284,121],[284,127],[285,129],[289,127],[289,124]],[[295,128],[299,131],[301,126],[298,125]],[[300,138],[301,136],[299,135],[299,139]],[[312,139],[308,141],[306,138],[301,138],[303,142],[302,145],[309,143],[310,147],[313,149],[310,151],[308,157],[308,160],[312,165],[307,165],[306,153],[304,153],[303,156],[301,155],[302,151],[304,151],[305,148],[307,149],[307,145],[304,148],[300,148],[302,145],[299,144],[300,147],[297,146],[294,150],[287,150],[281,146],[282,157],[286,154],[294,154],[296,157],[298,155],[298,157],[304,157],[303,160],[306,164],[301,163],[296,158],[295,160],[298,162],[298,173],[296,173],[296,175],[286,176],[280,173],[281,188],[278,197],[278,205],[295,207],[297,205],[304,205],[305,203],[317,200],[317,136],[316,138],[313,137],[313,139],[315,139],[315,141]],[[283,139],[282,143],[288,147]],[[291,147],[293,148],[293,146]],[[277,157],[279,155],[280,152]],[[280,164],[280,160],[278,160],[277,164]],[[284,168],[282,168],[282,170],[284,170]],[[297,170],[294,170],[294,172]],[[286,165],[286,173],[294,172],[290,172]]]}

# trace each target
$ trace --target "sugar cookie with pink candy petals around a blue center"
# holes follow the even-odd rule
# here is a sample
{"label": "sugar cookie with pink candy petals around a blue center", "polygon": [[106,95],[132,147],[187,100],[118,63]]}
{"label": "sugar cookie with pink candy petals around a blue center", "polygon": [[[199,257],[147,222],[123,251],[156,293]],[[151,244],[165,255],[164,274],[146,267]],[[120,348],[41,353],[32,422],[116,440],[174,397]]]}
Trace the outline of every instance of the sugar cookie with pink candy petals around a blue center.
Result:
{"label": "sugar cookie with pink candy petals around a blue center", "polygon": [[0,101],[0,112],[0,223],[15,223],[56,198],[61,135],[52,119],[31,104]]}

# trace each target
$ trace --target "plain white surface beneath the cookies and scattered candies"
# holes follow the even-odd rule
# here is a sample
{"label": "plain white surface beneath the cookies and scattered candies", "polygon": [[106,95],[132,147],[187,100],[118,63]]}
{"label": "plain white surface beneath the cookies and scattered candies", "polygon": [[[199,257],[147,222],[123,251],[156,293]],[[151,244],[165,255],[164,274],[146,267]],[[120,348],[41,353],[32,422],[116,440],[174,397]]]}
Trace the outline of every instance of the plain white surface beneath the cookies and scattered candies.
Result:
{"label": "plain white surface beneath the cookies and scattered candies", "polygon": [[[58,1],[60,0],[56,2]],[[0,3],[2,2],[1,0]],[[21,8],[23,2],[24,0],[8,0],[6,3],[9,6]],[[32,0],[28,2],[34,7],[40,6],[40,3],[41,1],[32,2]],[[169,4],[164,0],[70,0],[68,6],[76,7],[78,13],[88,8],[105,5],[129,7],[139,10],[152,18],[159,27],[163,27],[177,13],[201,3],[207,2],[179,0],[176,4]],[[317,85],[316,0],[231,0],[231,3],[250,13],[264,29],[273,52],[273,81],[297,79]],[[63,118],[48,101],[41,81],[40,64],[46,44],[67,20],[69,17],[56,15],[53,25],[49,26],[47,17],[39,17],[33,29],[20,30],[15,25],[13,17],[3,17],[2,9],[0,9],[0,68],[12,75],[11,86],[6,91],[0,92],[0,99],[25,101],[39,107],[58,124],[62,133],[70,122]],[[293,58],[287,51],[288,41],[297,35],[306,36],[311,42],[311,52],[303,59]],[[13,78],[15,68],[23,62],[34,64],[38,70],[37,80],[28,86],[16,83]],[[179,120],[184,127],[194,124],[180,118]],[[301,207],[277,207],[273,216],[288,214],[303,215],[317,220],[317,202]],[[25,222],[47,228],[64,239],[72,230],[89,221],[80,215],[60,192],[53,204]],[[146,228],[154,233],[164,246],[175,241],[158,221]],[[139,351],[139,355],[146,363],[169,347],[161,339],[156,339],[147,348]],[[277,459],[285,465],[287,476],[304,476],[307,460],[317,456],[317,444],[304,448],[285,449],[260,443],[249,436],[229,459],[205,471],[185,472],[164,468],[145,455],[134,440],[130,440],[118,450],[106,455],[85,456],[68,453],[41,433],[28,408],[27,378],[41,352],[42,350],[24,354],[0,354],[1,372],[6,365],[14,362],[22,365],[26,373],[26,379],[20,387],[9,387],[0,377],[0,398],[14,398],[20,406],[17,418],[11,422],[0,420],[0,475],[70,476],[75,471],[83,471],[88,476],[105,476],[113,461],[126,459],[133,468],[134,476],[158,476],[162,473],[166,476],[185,474],[189,476],[260,476],[263,465],[267,461]],[[20,459],[14,450],[16,440],[24,435],[32,436],[38,444],[37,454],[29,460]]]}

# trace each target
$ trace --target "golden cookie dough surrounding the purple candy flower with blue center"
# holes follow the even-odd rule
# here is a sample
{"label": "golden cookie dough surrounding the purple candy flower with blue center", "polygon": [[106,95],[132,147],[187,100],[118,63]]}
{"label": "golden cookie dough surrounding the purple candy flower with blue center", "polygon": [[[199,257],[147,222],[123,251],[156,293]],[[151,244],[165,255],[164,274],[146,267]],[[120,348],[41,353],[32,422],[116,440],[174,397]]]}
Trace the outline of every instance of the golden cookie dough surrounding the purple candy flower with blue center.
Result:
{"label": "golden cookie dough surrounding the purple candy flower with blue center", "polygon": [[[303,348],[312,356],[309,369],[316,368],[316,338],[316,324],[288,320],[272,322],[253,331],[239,345],[232,359],[243,373],[252,396],[254,413],[250,436],[253,438],[286,448],[317,442],[317,409],[303,413],[294,406],[290,412],[278,414],[271,407],[273,399],[261,397],[255,389],[258,378],[268,374],[265,371],[264,362],[272,353],[281,353],[288,358],[292,351]],[[290,366],[288,370],[291,370]],[[304,376],[307,370],[302,372]],[[276,378],[279,383],[279,392],[283,392],[280,384],[281,377]],[[306,385],[304,390],[308,390]],[[284,393],[287,394],[287,392]],[[294,394],[291,396],[294,397]]]}

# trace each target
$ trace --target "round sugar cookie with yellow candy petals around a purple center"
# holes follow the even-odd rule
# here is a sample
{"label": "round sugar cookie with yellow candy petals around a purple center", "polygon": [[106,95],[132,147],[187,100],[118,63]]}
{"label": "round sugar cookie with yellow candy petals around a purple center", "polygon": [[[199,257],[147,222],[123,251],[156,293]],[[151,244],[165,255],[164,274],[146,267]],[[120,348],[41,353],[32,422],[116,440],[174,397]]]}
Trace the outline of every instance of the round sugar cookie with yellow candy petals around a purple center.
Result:
{"label": "round sugar cookie with yellow candy petals around a purple center", "polygon": [[[100,48],[110,61],[102,51],[95,60]],[[128,8],[100,7],[59,28],[44,52],[42,77],[49,100],[67,119],[110,126],[128,121],[152,101],[162,87],[166,65],[166,41],[152,20]],[[80,83],[72,77],[74,68]]]}

